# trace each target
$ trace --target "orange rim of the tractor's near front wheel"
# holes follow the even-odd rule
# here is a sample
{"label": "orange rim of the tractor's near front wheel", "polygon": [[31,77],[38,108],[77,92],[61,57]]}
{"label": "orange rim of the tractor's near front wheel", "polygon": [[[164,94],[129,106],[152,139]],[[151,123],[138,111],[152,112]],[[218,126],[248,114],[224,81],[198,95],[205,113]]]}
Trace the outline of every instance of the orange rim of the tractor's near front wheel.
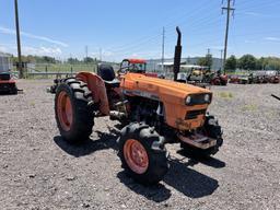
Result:
{"label": "orange rim of the tractor's near front wheel", "polygon": [[149,166],[149,158],[144,147],[135,139],[124,145],[124,154],[128,166],[137,174],[143,174]]}

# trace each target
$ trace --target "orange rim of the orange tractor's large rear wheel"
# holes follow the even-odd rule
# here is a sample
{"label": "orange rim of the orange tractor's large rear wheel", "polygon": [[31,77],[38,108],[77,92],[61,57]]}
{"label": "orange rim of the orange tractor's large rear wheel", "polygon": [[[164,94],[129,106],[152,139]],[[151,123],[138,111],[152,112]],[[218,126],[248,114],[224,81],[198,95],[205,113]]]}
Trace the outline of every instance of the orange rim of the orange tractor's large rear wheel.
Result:
{"label": "orange rim of the orange tractor's large rear wheel", "polygon": [[58,95],[57,113],[62,129],[69,131],[73,122],[73,110],[70,97],[65,91]]}

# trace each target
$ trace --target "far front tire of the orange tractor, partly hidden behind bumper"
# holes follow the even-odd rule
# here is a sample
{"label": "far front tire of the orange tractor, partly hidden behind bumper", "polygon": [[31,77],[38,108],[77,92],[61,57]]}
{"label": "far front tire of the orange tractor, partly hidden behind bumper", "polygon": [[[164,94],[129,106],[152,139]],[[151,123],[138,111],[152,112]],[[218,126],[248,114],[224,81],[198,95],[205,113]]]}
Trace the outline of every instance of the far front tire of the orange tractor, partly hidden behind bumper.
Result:
{"label": "far front tire of the orange tractor, partly hidden behind bumper", "polygon": [[222,130],[218,124],[218,120],[214,119],[213,116],[207,116],[202,132],[207,137],[215,139],[217,144],[212,148],[202,150],[199,148],[194,148],[185,142],[180,142],[180,147],[183,148],[184,152],[197,158],[208,158],[219,152],[219,148],[223,144]]}

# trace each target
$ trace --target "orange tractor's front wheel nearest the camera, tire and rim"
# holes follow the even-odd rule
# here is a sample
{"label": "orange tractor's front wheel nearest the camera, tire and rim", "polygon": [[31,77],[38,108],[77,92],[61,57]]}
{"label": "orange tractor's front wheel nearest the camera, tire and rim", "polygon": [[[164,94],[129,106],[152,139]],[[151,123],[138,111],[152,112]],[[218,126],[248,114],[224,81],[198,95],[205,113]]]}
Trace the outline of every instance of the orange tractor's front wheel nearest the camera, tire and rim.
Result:
{"label": "orange tractor's front wheel nearest the camera, tire and rim", "polygon": [[158,184],[168,171],[164,138],[144,124],[133,122],[121,130],[118,139],[121,166],[138,183]]}

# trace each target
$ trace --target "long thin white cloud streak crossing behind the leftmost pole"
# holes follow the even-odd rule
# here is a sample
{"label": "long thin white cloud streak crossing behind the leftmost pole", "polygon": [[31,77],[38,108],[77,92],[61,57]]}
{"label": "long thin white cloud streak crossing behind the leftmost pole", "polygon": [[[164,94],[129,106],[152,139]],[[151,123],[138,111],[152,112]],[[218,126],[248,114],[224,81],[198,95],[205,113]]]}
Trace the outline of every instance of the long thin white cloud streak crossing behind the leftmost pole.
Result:
{"label": "long thin white cloud streak crossing behind the leftmost pole", "polygon": [[[0,33],[15,35],[14,30],[11,30],[11,28],[8,28],[8,27],[2,27],[2,26],[0,26]],[[45,36],[38,36],[38,35],[30,34],[30,33],[26,33],[26,32],[21,32],[21,35],[25,36],[27,38],[34,38],[34,39],[38,39],[38,40],[44,40],[46,43],[56,44],[56,45],[59,45],[59,46],[62,46],[62,47],[68,47],[68,44],[66,44],[66,43],[62,43],[60,40],[55,40],[52,38],[48,38],[48,37],[45,37]]]}

